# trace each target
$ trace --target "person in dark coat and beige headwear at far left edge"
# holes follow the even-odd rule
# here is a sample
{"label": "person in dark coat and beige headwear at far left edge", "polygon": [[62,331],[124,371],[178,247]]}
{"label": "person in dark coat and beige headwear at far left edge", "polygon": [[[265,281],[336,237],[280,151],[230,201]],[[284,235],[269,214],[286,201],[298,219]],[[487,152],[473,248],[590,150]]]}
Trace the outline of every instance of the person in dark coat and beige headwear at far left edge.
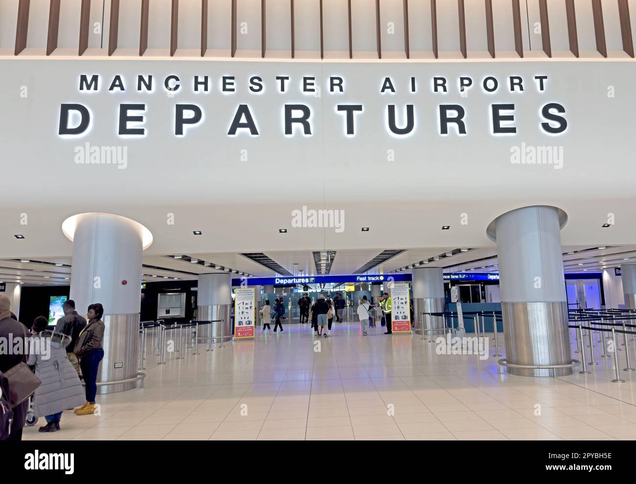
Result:
{"label": "person in dark coat and beige headwear at far left edge", "polygon": [[[11,301],[4,294],[0,294],[0,338],[5,341],[13,341],[11,351],[6,354],[0,353],[0,371],[5,373],[17,364],[27,362],[27,328],[21,322],[11,318]],[[20,345],[16,345],[16,340],[22,340],[22,348],[18,354],[15,350]],[[13,424],[11,425],[10,441],[22,440],[22,428],[27,417],[27,407],[29,399],[13,408]]]}

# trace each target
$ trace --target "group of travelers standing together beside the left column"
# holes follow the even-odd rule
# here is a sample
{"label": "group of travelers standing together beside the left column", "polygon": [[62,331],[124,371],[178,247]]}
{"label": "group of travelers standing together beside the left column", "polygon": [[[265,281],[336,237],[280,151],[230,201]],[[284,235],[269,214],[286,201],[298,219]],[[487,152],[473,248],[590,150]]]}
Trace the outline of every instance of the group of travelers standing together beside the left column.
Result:
{"label": "group of travelers standing together beside the left column", "polygon": [[[11,312],[10,299],[0,294],[0,338],[13,342],[22,340],[24,349],[18,354],[0,354],[0,439],[22,439],[31,396],[35,417],[46,420],[39,432],[59,431],[64,410],[74,410],[76,415],[92,415],[97,408],[97,370],[104,357],[104,308],[100,303],[90,305],[88,321],[75,310],[73,300],[67,300],[62,308],[64,317],[57,321],[55,329],[49,329],[46,317],[38,316],[29,337],[29,329]],[[49,344],[50,350],[43,351]],[[35,378],[31,373],[28,373],[31,377],[25,378],[24,370],[28,368],[34,371]],[[25,391],[27,379],[29,383],[39,384],[36,383],[34,393],[24,395],[21,392]],[[19,400],[15,406],[11,406],[9,396]],[[6,418],[9,412],[5,410],[11,410],[12,418]]]}

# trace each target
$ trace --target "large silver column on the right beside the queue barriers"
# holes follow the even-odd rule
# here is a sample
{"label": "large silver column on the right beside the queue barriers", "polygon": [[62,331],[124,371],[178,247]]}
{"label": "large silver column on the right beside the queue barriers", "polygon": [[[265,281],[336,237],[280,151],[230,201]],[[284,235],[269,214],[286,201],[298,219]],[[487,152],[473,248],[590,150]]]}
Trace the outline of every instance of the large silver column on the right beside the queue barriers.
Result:
{"label": "large silver column on the right beside the queue barriers", "polygon": [[[535,206],[506,212],[488,226],[497,242],[508,363],[572,363],[560,239],[565,221],[565,212]],[[508,367],[508,373],[563,376],[572,368]]]}

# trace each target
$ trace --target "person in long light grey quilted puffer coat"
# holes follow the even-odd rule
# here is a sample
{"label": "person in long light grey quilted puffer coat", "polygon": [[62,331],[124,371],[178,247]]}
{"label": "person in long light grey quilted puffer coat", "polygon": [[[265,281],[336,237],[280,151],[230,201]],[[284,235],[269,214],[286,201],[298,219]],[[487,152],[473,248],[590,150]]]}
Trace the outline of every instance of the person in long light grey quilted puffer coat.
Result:
{"label": "person in long light grey quilted puffer coat", "polygon": [[33,398],[36,418],[46,419],[46,425],[39,427],[39,432],[56,432],[60,430],[62,411],[81,406],[84,402],[84,389],[77,371],[66,356],[71,336],[47,328],[48,319],[44,316],[38,316],[33,321],[31,333],[34,347],[45,348],[46,340],[50,340],[50,352],[43,354],[39,351],[29,355],[27,364],[35,366],[36,377],[42,380]]}

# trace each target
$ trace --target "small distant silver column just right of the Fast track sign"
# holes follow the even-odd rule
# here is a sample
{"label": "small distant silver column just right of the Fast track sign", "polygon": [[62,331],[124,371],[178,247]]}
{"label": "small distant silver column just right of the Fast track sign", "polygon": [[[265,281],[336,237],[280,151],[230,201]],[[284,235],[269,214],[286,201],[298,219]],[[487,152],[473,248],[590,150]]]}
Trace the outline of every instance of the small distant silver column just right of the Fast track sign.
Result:
{"label": "small distant silver column just right of the Fast track sign", "polygon": [[[444,275],[441,267],[413,269],[413,309],[414,314],[444,312]],[[439,316],[424,315],[420,328],[443,328]]]}

